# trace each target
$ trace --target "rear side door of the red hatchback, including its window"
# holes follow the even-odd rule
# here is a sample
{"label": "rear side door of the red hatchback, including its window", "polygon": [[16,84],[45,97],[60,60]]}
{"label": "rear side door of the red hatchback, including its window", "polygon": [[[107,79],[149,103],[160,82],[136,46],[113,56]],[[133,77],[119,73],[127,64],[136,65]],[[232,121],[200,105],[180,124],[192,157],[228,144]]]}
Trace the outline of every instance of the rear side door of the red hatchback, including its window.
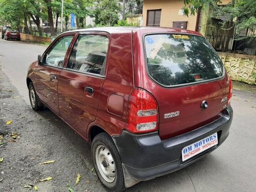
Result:
{"label": "rear side door of the red hatchback, including its window", "polygon": [[80,33],[59,76],[60,116],[83,137],[97,116],[108,47],[108,33]]}

